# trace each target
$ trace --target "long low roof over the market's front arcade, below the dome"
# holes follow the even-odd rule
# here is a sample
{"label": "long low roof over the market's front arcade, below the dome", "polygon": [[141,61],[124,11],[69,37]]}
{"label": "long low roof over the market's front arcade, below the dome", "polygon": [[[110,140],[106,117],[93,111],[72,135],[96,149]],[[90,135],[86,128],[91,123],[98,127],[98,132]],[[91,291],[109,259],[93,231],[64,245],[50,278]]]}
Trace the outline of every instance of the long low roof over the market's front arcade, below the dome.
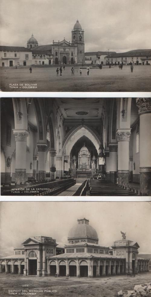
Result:
{"label": "long low roof over the market's front arcade, below the dome", "polygon": [[98,253],[64,253],[57,256],[53,256],[51,258],[88,258],[88,257],[95,257],[95,258],[108,258],[108,259],[124,259],[122,256],[113,256],[109,254],[98,254]]}

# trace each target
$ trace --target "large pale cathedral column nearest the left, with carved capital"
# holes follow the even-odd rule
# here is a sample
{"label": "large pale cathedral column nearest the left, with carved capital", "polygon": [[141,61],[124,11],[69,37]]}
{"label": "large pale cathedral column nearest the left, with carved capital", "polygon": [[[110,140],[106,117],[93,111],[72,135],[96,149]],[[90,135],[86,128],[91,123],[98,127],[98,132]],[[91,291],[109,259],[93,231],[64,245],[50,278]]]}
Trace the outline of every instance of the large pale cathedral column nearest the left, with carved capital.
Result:
{"label": "large pale cathedral column nearest the left, with carved capital", "polygon": [[26,145],[27,130],[13,129],[16,142],[16,160],[15,160],[15,183],[25,184],[26,182]]}

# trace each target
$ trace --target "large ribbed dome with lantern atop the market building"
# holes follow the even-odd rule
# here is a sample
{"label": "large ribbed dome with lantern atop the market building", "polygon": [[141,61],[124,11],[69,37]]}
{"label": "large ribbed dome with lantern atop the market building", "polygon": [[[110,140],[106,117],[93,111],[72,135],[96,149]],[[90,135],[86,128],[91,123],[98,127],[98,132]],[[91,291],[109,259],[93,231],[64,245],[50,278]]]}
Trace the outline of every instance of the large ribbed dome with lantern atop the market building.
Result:
{"label": "large ribbed dome with lantern atop the market building", "polygon": [[73,226],[68,235],[68,239],[73,238],[92,238],[98,240],[98,234],[96,230],[88,224],[87,219],[78,220],[78,224]]}

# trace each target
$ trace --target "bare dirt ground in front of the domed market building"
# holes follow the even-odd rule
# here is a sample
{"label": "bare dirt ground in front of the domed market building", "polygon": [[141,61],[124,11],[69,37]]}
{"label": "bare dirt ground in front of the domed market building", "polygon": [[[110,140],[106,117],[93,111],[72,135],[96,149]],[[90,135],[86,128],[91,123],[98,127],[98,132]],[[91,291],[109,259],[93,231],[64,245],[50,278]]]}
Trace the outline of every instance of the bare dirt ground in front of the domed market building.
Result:
{"label": "bare dirt ground in front of the domed market building", "polygon": [[[32,292],[32,295],[38,297],[115,297],[118,296],[117,292],[120,290],[124,292],[132,290],[135,285],[150,281],[151,272],[138,274],[136,277],[123,275],[91,279],[83,277],[55,278],[54,276],[6,275],[1,273],[0,296],[8,297],[11,295],[9,290],[15,290],[14,293],[17,293],[15,294],[17,296],[30,296],[29,292]],[[20,292],[17,290],[20,290]]]}

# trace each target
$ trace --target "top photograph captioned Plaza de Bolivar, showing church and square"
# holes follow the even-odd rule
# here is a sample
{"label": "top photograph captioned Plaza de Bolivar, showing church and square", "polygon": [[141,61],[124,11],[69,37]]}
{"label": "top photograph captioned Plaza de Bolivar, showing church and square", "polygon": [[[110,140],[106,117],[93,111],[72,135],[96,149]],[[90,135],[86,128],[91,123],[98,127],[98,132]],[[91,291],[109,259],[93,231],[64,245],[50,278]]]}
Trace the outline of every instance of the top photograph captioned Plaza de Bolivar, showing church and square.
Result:
{"label": "top photograph captioned Plaza de Bolivar, showing church and square", "polygon": [[150,92],[151,0],[1,0],[1,91]]}

